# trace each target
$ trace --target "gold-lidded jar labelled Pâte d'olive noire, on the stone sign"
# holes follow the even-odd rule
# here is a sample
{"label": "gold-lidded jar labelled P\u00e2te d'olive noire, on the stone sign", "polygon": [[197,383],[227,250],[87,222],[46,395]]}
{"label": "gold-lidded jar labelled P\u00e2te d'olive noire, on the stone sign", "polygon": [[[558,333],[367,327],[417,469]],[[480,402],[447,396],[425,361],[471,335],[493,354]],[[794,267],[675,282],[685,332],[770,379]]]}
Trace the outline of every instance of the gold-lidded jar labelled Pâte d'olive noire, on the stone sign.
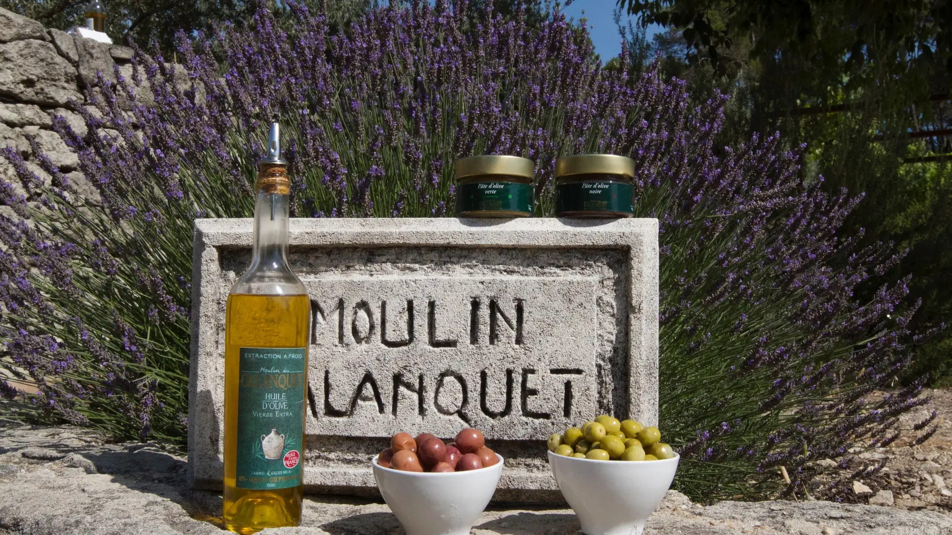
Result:
{"label": "gold-lidded jar labelled P\u00e2te d'olive noire, on the stone sign", "polygon": [[632,217],[635,161],[575,154],[555,161],[556,217]]}

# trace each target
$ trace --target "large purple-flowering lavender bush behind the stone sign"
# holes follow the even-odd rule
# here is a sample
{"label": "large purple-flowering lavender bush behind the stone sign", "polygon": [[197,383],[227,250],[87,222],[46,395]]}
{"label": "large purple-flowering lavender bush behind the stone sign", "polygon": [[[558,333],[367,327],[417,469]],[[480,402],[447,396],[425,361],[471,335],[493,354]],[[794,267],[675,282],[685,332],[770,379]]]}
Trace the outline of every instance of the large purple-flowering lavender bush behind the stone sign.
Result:
{"label": "large purple-flowering lavender bush behind the stone sign", "polygon": [[[6,152],[25,194],[0,188],[18,215],[0,217],[0,362],[39,393],[0,382],[5,415],[183,441],[191,222],[251,214],[279,111],[298,217],[452,215],[452,162],[473,153],[535,160],[546,213],[556,157],[631,155],[638,215],[661,221],[661,426],[684,455],[676,485],[701,499],[848,498],[852,471],[878,469],[848,451],[890,444],[922,403],[919,386],[877,393],[909,361],[914,307],[905,281],[853,298],[899,257],[837,235],[859,198],[803,183],[803,148],[776,135],[715,147],[724,98],[693,107],[657,71],[601,69],[558,12],[533,29],[419,2],[329,36],[322,15],[288,5],[287,30],[261,10],[247,28],[180,35],[184,65],[139,51],[131,79],[117,70],[89,90],[83,137],[55,121],[101,199],[42,156],[48,182]],[[123,110],[144,95],[154,104]],[[916,430],[927,438],[931,419]],[[819,459],[844,470],[821,485]]]}

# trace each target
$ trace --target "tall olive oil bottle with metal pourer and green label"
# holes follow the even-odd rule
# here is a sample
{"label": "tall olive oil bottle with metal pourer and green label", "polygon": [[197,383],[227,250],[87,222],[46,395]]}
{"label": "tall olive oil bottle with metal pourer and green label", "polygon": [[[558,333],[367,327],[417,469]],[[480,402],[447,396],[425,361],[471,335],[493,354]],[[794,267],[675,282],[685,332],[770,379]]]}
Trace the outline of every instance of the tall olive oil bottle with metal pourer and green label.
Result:
{"label": "tall olive oil bottle with metal pourer and green label", "polygon": [[251,267],[225,315],[225,490],[231,531],[299,525],[307,408],[307,290],[288,267],[288,163],[277,119],[258,162]]}

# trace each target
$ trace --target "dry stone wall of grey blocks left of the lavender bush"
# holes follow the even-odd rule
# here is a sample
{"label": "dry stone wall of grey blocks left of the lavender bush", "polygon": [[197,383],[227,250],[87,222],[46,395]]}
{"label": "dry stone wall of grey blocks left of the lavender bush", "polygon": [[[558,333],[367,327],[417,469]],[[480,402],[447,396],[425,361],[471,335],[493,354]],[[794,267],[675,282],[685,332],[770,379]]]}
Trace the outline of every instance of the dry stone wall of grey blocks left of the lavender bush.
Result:
{"label": "dry stone wall of grey blocks left of the lavender bush", "polygon": [[[114,66],[130,79],[131,58],[129,47],[72,37],[0,8],[0,148],[16,149],[27,160],[27,167],[47,180],[49,175],[39,167],[30,148],[32,138],[81,194],[95,199],[95,188],[78,170],[76,154],[52,130],[53,118],[62,116],[73,131],[87,135],[86,124],[77,113],[77,107],[89,106],[85,89],[96,82],[97,72],[115,81]],[[123,104],[127,109],[132,105]],[[0,177],[19,193],[26,193],[4,158],[0,158]],[[14,217],[9,207],[0,206],[0,213]]]}

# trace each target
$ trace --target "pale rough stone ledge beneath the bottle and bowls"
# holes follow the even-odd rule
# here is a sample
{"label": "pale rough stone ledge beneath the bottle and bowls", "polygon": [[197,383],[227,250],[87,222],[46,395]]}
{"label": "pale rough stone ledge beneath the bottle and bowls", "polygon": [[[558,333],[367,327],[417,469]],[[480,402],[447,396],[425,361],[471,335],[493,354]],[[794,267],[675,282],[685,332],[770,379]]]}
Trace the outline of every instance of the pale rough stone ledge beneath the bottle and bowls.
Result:
{"label": "pale rough stone ledge beneath the bottle and bowls", "polygon": [[[186,486],[186,461],[154,444],[106,444],[78,427],[0,423],[0,533],[222,533],[221,497]],[[402,535],[387,505],[308,496],[302,527],[263,535]],[[830,502],[722,502],[671,491],[645,535],[947,535],[932,511]],[[579,535],[570,509],[490,505],[472,535]]]}

